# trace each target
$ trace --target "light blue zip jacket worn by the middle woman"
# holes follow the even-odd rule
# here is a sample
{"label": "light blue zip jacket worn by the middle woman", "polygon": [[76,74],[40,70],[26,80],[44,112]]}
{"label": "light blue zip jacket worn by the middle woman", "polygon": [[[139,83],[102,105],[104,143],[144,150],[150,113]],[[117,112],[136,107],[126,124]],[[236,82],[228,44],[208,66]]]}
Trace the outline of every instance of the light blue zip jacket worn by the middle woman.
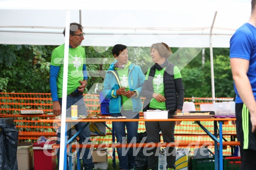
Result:
{"label": "light blue zip jacket worn by the middle woman", "polygon": [[[121,87],[118,74],[115,73],[114,61],[110,64],[104,80],[103,96],[110,99],[109,113],[121,113],[122,102],[121,96],[116,95],[116,90]],[[131,97],[133,112],[140,112],[142,110],[141,103],[141,89],[145,80],[145,76],[141,70],[141,67],[130,64],[128,71],[128,81],[131,91],[137,92],[137,96]],[[116,96],[115,96],[116,95]]]}

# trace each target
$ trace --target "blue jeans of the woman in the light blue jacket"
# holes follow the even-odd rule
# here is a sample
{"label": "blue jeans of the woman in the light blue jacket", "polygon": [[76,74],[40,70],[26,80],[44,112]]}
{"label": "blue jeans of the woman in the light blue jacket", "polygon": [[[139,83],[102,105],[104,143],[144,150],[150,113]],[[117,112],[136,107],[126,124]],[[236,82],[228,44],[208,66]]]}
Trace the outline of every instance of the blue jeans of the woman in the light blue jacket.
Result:
{"label": "blue jeans of the woman in the light blue jacket", "polygon": [[[126,110],[125,112],[130,112],[130,114],[136,115],[134,119],[139,118],[139,113],[134,113],[131,110]],[[112,113],[112,117],[122,116],[121,113]],[[112,126],[115,130],[115,138],[118,143],[126,143],[126,131],[127,130],[127,143],[136,143],[137,133],[138,133],[139,122],[112,122]],[[136,148],[130,148],[126,152],[126,148],[117,148],[117,154],[119,159],[119,169],[129,170],[133,169],[136,158]],[[127,154],[126,154],[127,153]]]}

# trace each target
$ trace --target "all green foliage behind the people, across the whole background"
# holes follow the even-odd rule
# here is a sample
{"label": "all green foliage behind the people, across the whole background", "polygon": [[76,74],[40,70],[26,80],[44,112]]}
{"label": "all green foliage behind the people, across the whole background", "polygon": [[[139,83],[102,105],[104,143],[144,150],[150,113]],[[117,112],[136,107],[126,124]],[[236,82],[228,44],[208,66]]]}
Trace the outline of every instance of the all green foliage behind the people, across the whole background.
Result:
{"label": "all green foliage behind the people, across the whole background", "polygon": [[[50,55],[56,46],[0,45],[0,91],[50,92]],[[115,61],[112,47],[85,46],[88,85],[85,92],[99,94],[105,73]],[[201,48],[171,48],[169,61],[180,69],[185,97],[211,97],[210,51],[205,49],[202,64]],[[145,73],[152,63],[149,47],[128,47],[129,60]],[[214,85],[216,97],[233,97],[233,80],[229,49],[213,48]],[[97,87],[96,87],[97,86]],[[97,90],[96,90],[97,89]]]}

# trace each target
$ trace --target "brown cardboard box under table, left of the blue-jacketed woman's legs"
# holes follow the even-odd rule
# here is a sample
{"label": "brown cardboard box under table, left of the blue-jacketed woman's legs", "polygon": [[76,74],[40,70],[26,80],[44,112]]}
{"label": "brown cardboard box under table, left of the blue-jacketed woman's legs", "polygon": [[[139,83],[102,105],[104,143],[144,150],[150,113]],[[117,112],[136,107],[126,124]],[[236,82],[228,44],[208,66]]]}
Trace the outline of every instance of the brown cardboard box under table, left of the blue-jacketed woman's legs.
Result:
{"label": "brown cardboard box under table, left of the blue-jacketed woman's legs", "polygon": [[92,157],[95,170],[108,169],[108,153],[105,150],[93,150]]}

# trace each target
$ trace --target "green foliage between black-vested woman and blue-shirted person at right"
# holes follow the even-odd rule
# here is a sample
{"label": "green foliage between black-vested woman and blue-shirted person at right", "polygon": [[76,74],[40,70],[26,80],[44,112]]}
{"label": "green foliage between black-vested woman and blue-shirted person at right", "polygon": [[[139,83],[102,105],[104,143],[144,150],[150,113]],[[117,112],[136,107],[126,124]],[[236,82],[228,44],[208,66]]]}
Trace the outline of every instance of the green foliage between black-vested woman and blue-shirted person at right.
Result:
{"label": "green foliage between black-vested woman and blue-shirted person at right", "polygon": [[[215,97],[233,97],[233,79],[229,61],[229,49],[213,48]],[[205,64],[202,65],[202,52],[184,69],[181,75],[185,97],[211,97],[211,64],[209,49],[205,50]]]}

